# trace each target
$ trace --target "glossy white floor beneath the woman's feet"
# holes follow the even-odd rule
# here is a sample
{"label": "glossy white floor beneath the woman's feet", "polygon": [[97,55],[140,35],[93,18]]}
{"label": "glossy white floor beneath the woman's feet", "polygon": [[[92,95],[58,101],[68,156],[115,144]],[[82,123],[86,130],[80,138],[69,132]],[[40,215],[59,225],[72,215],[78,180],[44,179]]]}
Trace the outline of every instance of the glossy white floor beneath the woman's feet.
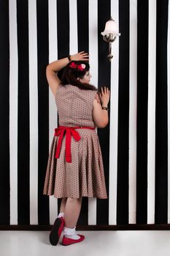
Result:
{"label": "glossy white floor beneath the woman's feet", "polygon": [[1,256],[169,256],[170,230],[79,231],[85,240],[63,246],[49,242],[50,231],[0,231]]}

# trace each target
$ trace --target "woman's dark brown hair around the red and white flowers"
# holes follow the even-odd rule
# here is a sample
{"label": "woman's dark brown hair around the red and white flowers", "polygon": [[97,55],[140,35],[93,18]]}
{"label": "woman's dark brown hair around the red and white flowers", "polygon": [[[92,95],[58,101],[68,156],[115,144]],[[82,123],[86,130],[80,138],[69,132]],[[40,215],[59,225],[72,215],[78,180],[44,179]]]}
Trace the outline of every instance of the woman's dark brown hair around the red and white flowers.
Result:
{"label": "woman's dark brown hair around the red and white flowers", "polygon": [[[70,67],[70,65],[80,65],[85,64],[85,69],[80,70],[76,68]],[[77,78],[83,78],[85,73],[89,71],[90,65],[87,61],[70,61],[69,64],[66,65],[63,69],[63,74],[61,76],[61,83],[63,86],[66,86],[67,84],[71,84],[72,86],[77,86],[80,89],[84,90],[93,90],[98,91],[98,89],[95,86],[90,85],[89,83],[81,83]]]}

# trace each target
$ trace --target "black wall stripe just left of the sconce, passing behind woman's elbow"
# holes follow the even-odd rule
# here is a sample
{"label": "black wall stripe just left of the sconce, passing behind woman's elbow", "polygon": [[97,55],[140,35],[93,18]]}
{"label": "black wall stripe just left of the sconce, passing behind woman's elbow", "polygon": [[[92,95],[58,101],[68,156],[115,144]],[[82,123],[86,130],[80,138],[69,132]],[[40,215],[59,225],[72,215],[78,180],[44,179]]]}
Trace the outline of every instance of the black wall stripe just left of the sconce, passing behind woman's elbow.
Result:
{"label": "black wall stripe just left of the sconce, passing behind woman's elbow", "polygon": [[[98,1],[98,88],[107,86],[110,89],[110,62],[107,60],[108,43],[104,42],[101,31],[110,18],[110,0]],[[109,107],[109,105],[108,105]],[[104,176],[109,197],[109,124],[104,129],[98,128],[98,138],[104,162]],[[108,225],[109,198],[97,199],[97,225]]]}

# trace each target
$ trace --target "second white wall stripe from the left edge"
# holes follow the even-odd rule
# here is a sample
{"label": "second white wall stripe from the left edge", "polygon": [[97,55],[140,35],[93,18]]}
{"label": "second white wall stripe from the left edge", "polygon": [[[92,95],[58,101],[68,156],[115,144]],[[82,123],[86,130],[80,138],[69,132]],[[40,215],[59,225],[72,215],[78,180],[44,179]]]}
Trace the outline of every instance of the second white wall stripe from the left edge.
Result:
{"label": "second white wall stripe from the left edge", "polygon": [[28,1],[30,100],[30,224],[38,224],[38,78],[36,0]]}

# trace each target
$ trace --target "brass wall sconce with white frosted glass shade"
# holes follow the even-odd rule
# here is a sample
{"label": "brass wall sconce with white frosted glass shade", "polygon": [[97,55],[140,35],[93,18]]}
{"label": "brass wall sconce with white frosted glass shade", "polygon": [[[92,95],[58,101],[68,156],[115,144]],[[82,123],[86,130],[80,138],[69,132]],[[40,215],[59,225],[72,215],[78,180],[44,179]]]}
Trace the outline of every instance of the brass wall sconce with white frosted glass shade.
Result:
{"label": "brass wall sconce with white frosted glass shade", "polygon": [[109,61],[112,60],[112,42],[115,41],[117,36],[120,36],[120,33],[117,31],[117,23],[115,20],[112,19],[112,17],[107,21],[105,25],[105,29],[103,32],[101,32],[104,41],[109,42],[109,55],[107,58]]}

